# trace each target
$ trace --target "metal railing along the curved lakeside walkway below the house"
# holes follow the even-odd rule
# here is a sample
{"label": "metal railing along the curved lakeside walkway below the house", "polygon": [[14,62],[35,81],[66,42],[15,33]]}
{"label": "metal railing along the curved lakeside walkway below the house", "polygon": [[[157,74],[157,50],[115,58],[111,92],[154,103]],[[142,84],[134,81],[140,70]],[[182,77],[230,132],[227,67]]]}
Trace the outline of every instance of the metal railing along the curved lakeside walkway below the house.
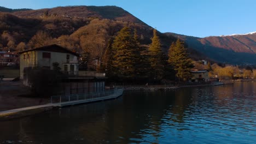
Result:
{"label": "metal railing along the curved lakeside walkway below the house", "polygon": [[94,92],[94,93],[82,93],[82,94],[69,94],[69,95],[57,95],[51,97],[51,103],[65,103],[68,101],[77,101],[77,100],[94,100],[94,99],[101,99],[104,97],[118,97],[123,93],[123,88],[118,89],[111,89],[109,91],[104,92]]}

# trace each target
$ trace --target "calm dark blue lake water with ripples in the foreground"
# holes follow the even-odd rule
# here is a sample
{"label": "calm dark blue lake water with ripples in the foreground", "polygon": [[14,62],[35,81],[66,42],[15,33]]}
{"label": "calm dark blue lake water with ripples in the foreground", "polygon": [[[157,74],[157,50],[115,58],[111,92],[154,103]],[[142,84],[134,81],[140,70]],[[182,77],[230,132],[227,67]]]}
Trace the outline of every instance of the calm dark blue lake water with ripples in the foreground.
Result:
{"label": "calm dark blue lake water with ripples in the foreground", "polygon": [[254,143],[256,82],[125,92],[0,122],[0,143]]}

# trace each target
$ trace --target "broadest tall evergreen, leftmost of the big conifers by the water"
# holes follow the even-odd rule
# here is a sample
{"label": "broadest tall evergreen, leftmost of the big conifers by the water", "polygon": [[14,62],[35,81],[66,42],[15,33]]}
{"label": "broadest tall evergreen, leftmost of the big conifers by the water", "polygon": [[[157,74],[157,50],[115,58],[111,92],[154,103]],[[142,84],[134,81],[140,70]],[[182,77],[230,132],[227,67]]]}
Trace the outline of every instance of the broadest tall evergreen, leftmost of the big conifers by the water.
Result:
{"label": "broadest tall evergreen, leftmost of the big conifers by the water", "polygon": [[128,79],[135,77],[136,46],[129,27],[121,29],[117,37],[115,37],[113,51],[115,74]]}

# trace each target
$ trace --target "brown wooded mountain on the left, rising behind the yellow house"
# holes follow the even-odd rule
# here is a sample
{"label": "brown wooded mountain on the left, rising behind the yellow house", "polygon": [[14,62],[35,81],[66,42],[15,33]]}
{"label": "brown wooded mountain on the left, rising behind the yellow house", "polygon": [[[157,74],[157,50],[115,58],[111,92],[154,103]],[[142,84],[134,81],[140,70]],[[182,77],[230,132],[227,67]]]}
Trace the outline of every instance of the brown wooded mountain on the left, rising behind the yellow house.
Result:
{"label": "brown wooded mountain on the left, rising behind the yellow house", "polygon": [[[153,28],[115,6],[72,6],[0,13],[0,50],[1,47],[2,50],[15,50],[14,47],[20,43],[30,48],[34,35],[44,31],[58,44],[81,51],[86,49],[86,39],[104,33],[104,36],[107,35],[104,40],[108,41],[124,26],[137,30],[142,45],[151,43]],[[172,35],[160,32],[158,35],[166,52],[172,41],[177,40]]]}

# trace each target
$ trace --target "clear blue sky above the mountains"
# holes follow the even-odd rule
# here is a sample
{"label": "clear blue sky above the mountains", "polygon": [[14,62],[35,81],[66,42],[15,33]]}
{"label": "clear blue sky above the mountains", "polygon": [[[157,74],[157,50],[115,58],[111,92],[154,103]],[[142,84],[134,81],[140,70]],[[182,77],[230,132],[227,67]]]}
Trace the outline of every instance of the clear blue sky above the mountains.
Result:
{"label": "clear blue sky above the mountains", "polygon": [[160,32],[195,37],[256,31],[255,0],[0,0],[12,9],[67,5],[116,5]]}

